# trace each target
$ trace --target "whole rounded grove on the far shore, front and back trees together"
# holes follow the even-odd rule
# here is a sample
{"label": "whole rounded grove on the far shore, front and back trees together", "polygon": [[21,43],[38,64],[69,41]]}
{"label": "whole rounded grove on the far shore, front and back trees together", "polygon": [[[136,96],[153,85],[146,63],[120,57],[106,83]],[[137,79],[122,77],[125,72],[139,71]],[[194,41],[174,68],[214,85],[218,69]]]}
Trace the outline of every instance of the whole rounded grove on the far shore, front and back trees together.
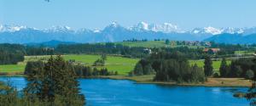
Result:
{"label": "whole rounded grove on the far shore, front and back trees together", "polygon": [[141,59],[131,74],[154,74],[154,81],[204,82],[205,72],[196,64],[189,65],[183,53],[153,53],[146,59]]}

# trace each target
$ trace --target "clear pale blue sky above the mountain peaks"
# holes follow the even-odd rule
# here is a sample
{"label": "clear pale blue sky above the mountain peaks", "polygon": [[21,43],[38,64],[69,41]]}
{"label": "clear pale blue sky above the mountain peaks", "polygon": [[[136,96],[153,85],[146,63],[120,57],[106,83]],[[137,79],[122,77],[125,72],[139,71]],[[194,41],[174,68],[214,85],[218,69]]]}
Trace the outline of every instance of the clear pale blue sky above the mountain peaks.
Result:
{"label": "clear pale blue sky above the mountain peaks", "polygon": [[102,29],[140,21],[182,29],[256,26],[256,0],[0,0],[0,25]]}

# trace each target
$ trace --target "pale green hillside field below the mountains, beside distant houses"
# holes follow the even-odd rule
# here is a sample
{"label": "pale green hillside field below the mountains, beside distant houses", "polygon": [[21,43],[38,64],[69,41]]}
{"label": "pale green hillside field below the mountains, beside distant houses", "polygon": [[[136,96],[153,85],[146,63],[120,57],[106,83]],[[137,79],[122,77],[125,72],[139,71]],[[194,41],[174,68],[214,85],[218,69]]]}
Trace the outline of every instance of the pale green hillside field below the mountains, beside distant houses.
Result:
{"label": "pale green hillside field below the mountains, beside distant houses", "polygon": [[196,48],[200,46],[188,46],[188,45],[171,45],[166,44],[165,41],[148,41],[148,42],[115,42],[115,44],[122,44],[128,47],[190,47]]}

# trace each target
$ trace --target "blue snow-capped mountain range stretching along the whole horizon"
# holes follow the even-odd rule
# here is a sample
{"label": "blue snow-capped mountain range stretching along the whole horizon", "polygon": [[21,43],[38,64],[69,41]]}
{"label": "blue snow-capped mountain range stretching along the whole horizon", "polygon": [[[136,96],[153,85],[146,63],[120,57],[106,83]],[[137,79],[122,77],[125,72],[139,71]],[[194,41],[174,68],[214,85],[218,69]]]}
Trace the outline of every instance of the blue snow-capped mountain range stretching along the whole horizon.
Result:
{"label": "blue snow-capped mountain range stretching along the whole horizon", "polygon": [[36,29],[19,25],[0,25],[1,43],[39,43],[52,40],[61,42],[122,42],[136,39],[170,39],[177,41],[213,41],[223,43],[256,43],[256,27],[252,28],[195,28],[183,31],[177,25],[161,25],[140,22],[124,27],[116,22],[102,30],[72,30],[68,26],[55,26],[49,29]]}

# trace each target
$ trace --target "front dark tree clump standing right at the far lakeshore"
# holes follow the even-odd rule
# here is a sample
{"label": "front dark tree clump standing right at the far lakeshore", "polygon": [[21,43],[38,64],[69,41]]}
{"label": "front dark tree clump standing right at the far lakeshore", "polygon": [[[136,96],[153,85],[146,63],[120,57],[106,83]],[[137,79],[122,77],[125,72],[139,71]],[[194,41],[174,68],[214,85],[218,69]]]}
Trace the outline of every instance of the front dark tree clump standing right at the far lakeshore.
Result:
{"label": "front dark tree clump standing right at the far lakeshore", "polygon": [[204,82],[206,77],[204,71],[196,64],[190,66],[188,61],[168,59],[160,64],[154,81]]}

